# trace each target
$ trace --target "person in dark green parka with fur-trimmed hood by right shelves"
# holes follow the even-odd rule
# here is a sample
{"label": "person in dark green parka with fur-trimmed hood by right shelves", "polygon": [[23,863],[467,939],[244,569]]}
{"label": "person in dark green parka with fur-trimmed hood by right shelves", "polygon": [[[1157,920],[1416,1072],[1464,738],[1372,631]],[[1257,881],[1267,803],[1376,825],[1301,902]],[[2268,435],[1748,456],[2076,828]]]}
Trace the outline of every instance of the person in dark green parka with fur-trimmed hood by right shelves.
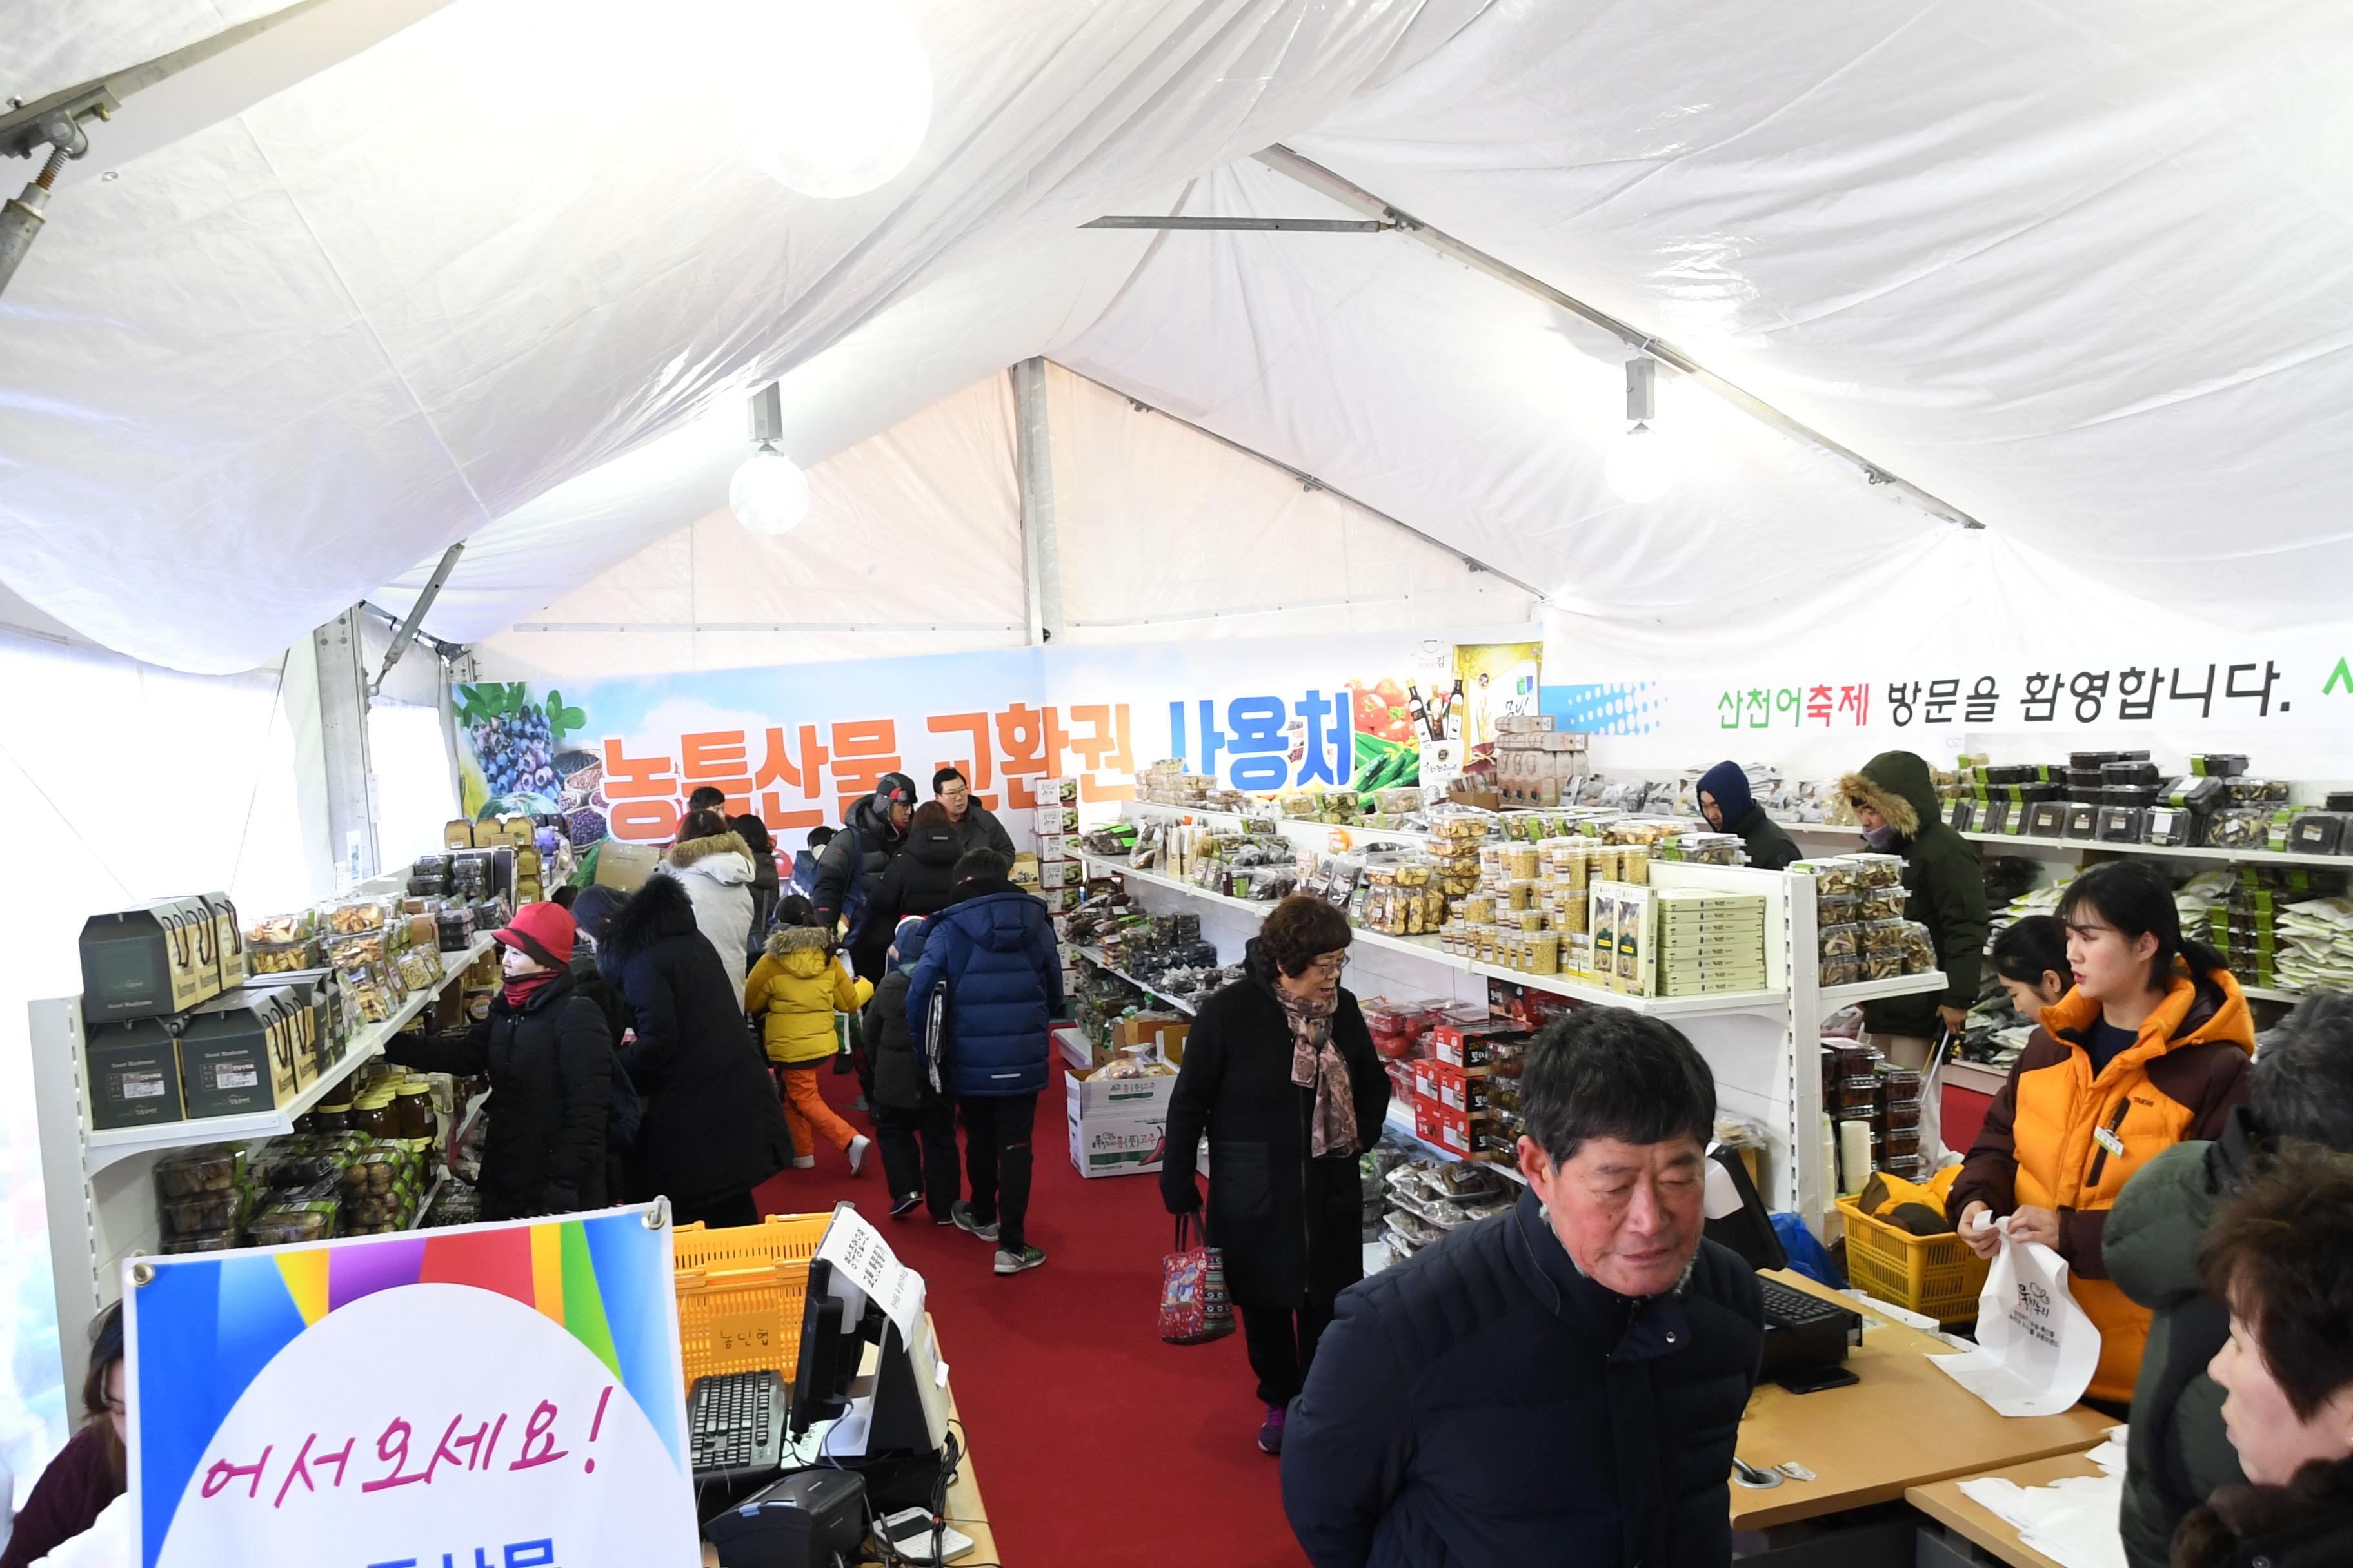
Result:
{"label": "person in dark green parka with fur-trimmed hood by right shelves", "polygon": [[[1904,1067],[1927,1067],[1944,1030],[1969,1023],[1979,961],[1986,952],[1986,872],[1977,846],[1937,811],[1937,776],[1911,752],[1880,752],[1838,780],[1871,849],[1904,856],[1906,914],[1927,926],[1944,969],[1944,990],[1864,1004],[1871,1044]],[[1920,1152],[1934,1171],[1946,1161],[1937,1086],[1920,1095]]]}

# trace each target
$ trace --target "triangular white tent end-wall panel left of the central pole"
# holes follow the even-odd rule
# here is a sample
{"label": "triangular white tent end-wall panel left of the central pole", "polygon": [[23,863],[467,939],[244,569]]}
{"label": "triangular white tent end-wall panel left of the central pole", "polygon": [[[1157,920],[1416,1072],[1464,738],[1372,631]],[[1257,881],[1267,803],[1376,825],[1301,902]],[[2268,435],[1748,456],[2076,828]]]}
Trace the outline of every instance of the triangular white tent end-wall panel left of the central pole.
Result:
{"label": "triangular white tent end-wall panel left of the central pole", "polygon": [[[746,451],[739,437],[732,463]],[[809,520],[784,538],[720,508],[475,658],[485,679],[560,682],[1012,646],[1026,625],[1000,371],[812,468]]]}

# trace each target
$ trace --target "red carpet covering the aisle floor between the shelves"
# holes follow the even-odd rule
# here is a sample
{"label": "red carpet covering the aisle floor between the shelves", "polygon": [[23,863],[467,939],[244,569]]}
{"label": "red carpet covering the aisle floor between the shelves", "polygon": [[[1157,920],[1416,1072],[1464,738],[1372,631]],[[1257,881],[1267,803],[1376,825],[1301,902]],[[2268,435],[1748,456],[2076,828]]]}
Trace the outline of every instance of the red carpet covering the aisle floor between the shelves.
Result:
{"label": "red carpet covering the aisle floor between the shelves", "polygon": [[[856,1079],[821,1074],[826,1098],[866,1131],[847,1110]],[[1080,1180],[1066,1126],[1056,1067],[1038,1098],[1028,1213],[1047,1265],[1012,1279],[991,1272],[995,1248],[929,1213],[894,1225],[880,1159],[852,1180],[840,1152],[819,1150],[814,1171],[760,1187],[760,1208],[821,1213],[852,1199],[925,1276],[1005,1563],[1299,1568],[1278,1465],[1257,1446],[1264,1406],[1242,1338],[1160,1342],[1160,1187]]]}

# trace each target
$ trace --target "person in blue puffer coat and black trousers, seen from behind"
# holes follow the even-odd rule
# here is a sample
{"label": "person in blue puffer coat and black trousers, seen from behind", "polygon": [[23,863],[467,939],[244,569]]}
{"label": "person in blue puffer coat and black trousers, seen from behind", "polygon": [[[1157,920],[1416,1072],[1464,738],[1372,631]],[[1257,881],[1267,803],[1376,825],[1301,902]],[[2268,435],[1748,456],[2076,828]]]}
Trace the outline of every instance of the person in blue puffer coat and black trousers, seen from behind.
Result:
{"label": "person in blue puffer coat and black trousers, seen from behind", "polygon": [[[965,1121],[972,1201],[955,1222],[998,1246],[998,1274],[1045,1262],[1024,1239],[1031,1131],[1061,1011],[1061,950],[1042,898],[1016,889],[1012,860],[974,849],[955,863],[955,903],[925,926],[906,992],[920,1063],[939,1051],[941,1088]],[[932,992],[946,987],[946,1039],[929,1039]]]}

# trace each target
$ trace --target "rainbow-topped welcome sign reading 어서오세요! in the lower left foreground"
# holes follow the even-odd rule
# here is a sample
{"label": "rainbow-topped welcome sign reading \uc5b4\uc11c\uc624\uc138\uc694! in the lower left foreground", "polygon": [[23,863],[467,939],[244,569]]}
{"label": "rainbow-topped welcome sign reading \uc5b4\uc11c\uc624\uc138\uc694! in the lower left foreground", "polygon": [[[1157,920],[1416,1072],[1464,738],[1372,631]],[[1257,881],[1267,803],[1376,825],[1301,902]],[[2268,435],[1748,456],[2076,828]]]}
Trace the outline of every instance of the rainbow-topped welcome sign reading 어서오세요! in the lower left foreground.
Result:
{"label": "rainbow-topped welcome sign reading \uc5b4\uc11c\uc624\uc138\uc694! in the lower left foreground", "polygon": [[139,1568],[696,1561],[645,1208],[141,1258],[125,1345]]}

